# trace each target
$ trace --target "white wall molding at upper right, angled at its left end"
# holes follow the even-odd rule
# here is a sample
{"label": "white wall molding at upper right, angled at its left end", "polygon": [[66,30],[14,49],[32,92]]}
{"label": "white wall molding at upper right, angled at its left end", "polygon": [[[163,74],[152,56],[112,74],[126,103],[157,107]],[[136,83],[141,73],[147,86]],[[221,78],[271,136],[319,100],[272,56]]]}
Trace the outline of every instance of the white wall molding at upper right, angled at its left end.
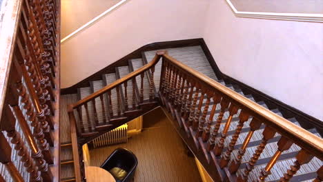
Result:
{"label": "white wall molding at upper right, angled at its left end", "polygon": [[[228,6],[235,13],[236,17],[257,18],[257,19],[279,19],[288,21],[311,21],[323,22],[323,13],[295,13],[295,12],[253,12],[253,11],[239,11],[234,6],[233,0],[226,0]],[[250,2],[250,1],[249,1]],[[323,3],[322,3],[323,6]]]}

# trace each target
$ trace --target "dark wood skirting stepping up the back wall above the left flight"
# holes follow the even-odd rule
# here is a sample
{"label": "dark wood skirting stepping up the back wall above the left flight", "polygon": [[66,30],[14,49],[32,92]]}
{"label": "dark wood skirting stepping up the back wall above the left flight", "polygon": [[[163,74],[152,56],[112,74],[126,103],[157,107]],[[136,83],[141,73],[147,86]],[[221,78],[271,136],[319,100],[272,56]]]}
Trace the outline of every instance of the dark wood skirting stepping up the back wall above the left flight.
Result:
{"label": "dark wood skirting stepping up the back wall above the left flight", "polygon": [[98,72],[96,72],[95,74],[92,74],[90,77],[87,77],[86,79],[80,81],[79,83],[76,83],[75,85],[72,85],[69,88],[61,89],[61,94],[76,94],[77,88],[89,87],[90,81],[100,80],[102,74],[115,72],[115,67],[127,66],[129,59],[141,59],[141,52],[150,51],[150,50],[195,46],[195,45],[200,45],[200,41],[202,40],[203,40],[202,38],[199,38],[199,39],[186,39],[186,40],[179,40],[179,41],[162,41],[162,42],[156,42],[156,43],[150,43],[150,44],[144,45],[141,48],[126,55],[125,57],[122,57],[118,61],[115,61],[114,63],[106,66],[106,68],[103,68]]}

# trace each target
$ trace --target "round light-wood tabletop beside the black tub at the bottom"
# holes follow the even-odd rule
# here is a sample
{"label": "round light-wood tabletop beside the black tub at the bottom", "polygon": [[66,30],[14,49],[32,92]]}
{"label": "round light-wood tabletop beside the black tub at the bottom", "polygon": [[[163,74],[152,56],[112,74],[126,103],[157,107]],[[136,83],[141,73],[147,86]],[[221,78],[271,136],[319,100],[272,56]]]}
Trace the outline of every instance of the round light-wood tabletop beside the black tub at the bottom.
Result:
{"label": "round light-wood tabletop beside the black tub at the bottom", "polygon": [[115,178],[102,168],[86,166],[86,181],[88,182],[115,182]]}

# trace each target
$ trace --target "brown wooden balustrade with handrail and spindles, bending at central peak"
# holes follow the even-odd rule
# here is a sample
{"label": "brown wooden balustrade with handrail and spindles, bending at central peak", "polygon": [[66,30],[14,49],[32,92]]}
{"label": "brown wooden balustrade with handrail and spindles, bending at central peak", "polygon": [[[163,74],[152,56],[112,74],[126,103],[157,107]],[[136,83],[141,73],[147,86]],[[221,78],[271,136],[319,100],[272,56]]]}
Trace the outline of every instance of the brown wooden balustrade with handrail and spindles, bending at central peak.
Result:
{"label": "brown wooden balustrade with handrail and spindles, bending at central peak", "polygon": [[215,181],[322,178],[323,145],[315,128],[302,129],[303,123],[284,119],[237,85],[206,77],[164,51],[135,71],[131,65],[115,68],[114,82],[104,75],[79,89],[81,100],[68,110],[79,145],[160,105]]}

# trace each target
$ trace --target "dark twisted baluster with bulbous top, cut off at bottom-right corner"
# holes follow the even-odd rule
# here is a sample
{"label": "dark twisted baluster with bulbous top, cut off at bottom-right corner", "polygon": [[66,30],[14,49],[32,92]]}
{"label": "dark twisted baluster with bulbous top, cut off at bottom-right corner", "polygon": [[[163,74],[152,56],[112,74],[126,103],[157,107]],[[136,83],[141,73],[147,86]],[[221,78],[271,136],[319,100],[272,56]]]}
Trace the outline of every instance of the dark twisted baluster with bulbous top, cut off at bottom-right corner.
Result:
{"label": "dark twisted baluster with bulbous top, cut off at bottom-right corner", "polygon": [[284,177],[280,179],[280,182],[287,182],[291,180],[294,174],[296,174],[297,171],[300,170],[301,165],[309,163],[312,159],[312,154],[304,149],[300,150],[300,152],[298,152],[298,154],[296,155],[296,161],[294,162],[294,165],[291,165],[291,169],[287,170],[287,172],[284,174]]}

